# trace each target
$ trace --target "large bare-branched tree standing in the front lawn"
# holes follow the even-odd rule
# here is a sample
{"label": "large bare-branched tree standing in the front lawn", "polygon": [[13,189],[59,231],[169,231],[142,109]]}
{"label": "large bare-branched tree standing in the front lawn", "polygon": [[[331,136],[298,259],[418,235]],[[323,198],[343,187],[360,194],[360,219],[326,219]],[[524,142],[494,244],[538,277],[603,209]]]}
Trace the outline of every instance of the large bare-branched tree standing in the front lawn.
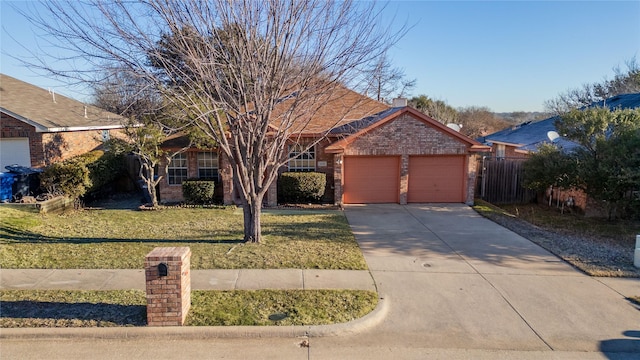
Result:
{"label": "large bare-branched tree standing in the front lawn", "polygon": [[[261,241],[262,201],[288,161],[287,142],[308,131],[324,104],[336,101],[336,89],[366,84],[365,68],[400,35],[380,28],[377,4],[350,0],[86,0],[43,6],[46,13],[26,16],[53,44],[97,69],[117,64],[154,83],[216,141],[233,169],[247,242]],[[159,46],[167,36],[179,61]],[[95,72],[65,73],[46,64],[55,74],[96,80]]]}

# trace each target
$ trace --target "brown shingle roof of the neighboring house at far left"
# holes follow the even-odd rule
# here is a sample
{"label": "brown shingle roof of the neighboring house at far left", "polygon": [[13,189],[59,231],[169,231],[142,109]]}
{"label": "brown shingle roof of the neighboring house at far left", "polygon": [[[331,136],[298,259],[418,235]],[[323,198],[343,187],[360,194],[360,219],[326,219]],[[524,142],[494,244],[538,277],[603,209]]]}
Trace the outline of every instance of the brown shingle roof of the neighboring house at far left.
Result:
{"label": "brown shingle roof of the neighboring house at far left", "polygon": [[105,130],[123,127],[123,118],[92,105],[0,74],[0,111],[37,132]]}

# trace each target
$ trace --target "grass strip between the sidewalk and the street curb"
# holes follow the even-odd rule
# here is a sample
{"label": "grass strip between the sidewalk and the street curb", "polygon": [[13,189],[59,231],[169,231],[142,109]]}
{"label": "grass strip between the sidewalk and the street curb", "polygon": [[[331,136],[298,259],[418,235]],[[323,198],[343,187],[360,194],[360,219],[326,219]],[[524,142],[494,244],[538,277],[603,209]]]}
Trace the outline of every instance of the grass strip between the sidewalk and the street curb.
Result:
{"label": "grass strip between the sidewalk and the street curb", "polygon": [[[363,290],[193,291],[186,325],[325,325],[371,312]],[[146,299],[129,291],[0,291],[0,327],[145,326]]]}

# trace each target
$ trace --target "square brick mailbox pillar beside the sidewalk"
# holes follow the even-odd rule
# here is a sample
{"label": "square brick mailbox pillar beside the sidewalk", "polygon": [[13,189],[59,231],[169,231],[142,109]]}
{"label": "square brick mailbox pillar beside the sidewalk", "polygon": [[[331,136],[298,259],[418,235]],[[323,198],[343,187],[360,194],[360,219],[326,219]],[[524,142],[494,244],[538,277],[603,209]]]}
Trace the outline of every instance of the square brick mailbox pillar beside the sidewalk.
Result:
{"label": "square brick mailbox pillar beside the sidewalk", "polygon": [[144,259],[147,325],[182,326],[191,307],[191,249],[158,247]]}

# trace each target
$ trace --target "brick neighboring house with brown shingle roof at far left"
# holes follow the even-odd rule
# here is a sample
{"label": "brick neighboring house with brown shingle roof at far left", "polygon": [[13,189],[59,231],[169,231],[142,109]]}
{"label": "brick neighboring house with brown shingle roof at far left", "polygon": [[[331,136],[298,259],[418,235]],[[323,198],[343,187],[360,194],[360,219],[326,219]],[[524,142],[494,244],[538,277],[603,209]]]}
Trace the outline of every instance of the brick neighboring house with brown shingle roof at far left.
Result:
{"label": "brick neighboring house with brown shingle roof at far left", "polygon": [[7,165],[41,168],[99,147],[123,118],[0,74],[0,172]]}

